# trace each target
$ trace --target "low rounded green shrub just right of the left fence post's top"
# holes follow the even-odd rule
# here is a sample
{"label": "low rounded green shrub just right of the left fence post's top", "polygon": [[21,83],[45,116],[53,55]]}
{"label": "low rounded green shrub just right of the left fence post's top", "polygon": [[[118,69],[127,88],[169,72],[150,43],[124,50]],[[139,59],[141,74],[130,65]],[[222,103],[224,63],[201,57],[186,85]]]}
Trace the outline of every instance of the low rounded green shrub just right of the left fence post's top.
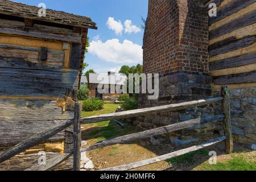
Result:
{"label": "low rounded green shrub just right of the left fence post's top", "polygon": [[95,111],[103,109],[104,102],[98,98],[89,98],[82,102],[82,111]]}

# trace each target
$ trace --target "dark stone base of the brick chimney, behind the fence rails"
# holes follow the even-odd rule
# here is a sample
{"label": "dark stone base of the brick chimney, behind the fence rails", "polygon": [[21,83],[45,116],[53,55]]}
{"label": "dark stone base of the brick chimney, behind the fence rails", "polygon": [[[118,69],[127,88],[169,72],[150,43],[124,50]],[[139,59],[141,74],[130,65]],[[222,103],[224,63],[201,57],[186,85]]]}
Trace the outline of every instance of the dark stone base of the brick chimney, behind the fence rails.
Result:
{"label": "dark stone base of the brick chimney, behind the fence rails", "polygon": [[[212,77],[188,73],[175,73],[162,76],[159,79],[158,100],[148,100],[146,94],[139,96],[139,107],[151,107],[167,104],[175,104],[193,100],[200,100],[212,96]],[[218,104],[210,104],[200,107],[192,107],[177,112],[164,112],[137,118],[137,126],[143,130],[155,127],[167,126],[189,119],[208,117],[221,113],[221,109],[214,109]],[[208,123],[201,127],[180,130],[169,135],[170,138],[182,140],[200,140],[205,134],[223,134],[222,123]]]}

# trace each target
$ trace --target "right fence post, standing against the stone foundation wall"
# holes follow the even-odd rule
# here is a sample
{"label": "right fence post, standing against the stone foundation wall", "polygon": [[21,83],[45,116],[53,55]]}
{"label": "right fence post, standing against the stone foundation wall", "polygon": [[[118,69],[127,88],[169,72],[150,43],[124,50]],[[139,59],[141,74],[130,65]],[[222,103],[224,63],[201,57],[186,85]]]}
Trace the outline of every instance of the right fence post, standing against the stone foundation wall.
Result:
{"label": "right fence post, standing against the stone foundation wall", "polygon": [[228,86],[221,87],[221,94],[224,98],[222,101],[222,112],[225,114],[224,132],[227,137],[225,140],[225,151],[228,154],[233,152],[233,137],[231,128],[231,114],[230,114],[230,96]]}

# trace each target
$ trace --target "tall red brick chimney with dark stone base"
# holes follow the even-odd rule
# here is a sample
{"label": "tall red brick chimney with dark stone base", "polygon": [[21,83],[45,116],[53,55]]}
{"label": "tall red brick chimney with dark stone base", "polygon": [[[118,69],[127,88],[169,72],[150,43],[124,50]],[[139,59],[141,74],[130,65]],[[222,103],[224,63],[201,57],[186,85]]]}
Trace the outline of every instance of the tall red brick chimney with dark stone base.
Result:
{"label": "tall red brick chimney with dark stone base", "polygon": [[[143,39],[144,73],[159,73],[159,98],[140,94],[139,107],[208,98],[212,77],[208,69],[208,15],[193,0],[148,0]],[[211,108],[142,117],[143,129],[211,114]]]}

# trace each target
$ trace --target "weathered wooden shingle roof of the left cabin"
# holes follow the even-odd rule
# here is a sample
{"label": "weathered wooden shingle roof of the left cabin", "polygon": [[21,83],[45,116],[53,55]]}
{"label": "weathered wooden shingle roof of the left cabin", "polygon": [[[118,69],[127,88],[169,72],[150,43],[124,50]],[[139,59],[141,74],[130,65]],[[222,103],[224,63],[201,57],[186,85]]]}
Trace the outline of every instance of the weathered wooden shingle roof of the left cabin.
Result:
{"label": "weathered wooden shingle roof of the left cabin", "polygon": [[46,16],[40,17],[38,15],[39,10],[40,7],[28,6],[24,5],[23,3],[9,0],[0,0],[0,14],[42,20],[51,23],[65,24],[69,26],[97,29],[96,23],[92,22],[92,20],[86,16],[46,9]]}

